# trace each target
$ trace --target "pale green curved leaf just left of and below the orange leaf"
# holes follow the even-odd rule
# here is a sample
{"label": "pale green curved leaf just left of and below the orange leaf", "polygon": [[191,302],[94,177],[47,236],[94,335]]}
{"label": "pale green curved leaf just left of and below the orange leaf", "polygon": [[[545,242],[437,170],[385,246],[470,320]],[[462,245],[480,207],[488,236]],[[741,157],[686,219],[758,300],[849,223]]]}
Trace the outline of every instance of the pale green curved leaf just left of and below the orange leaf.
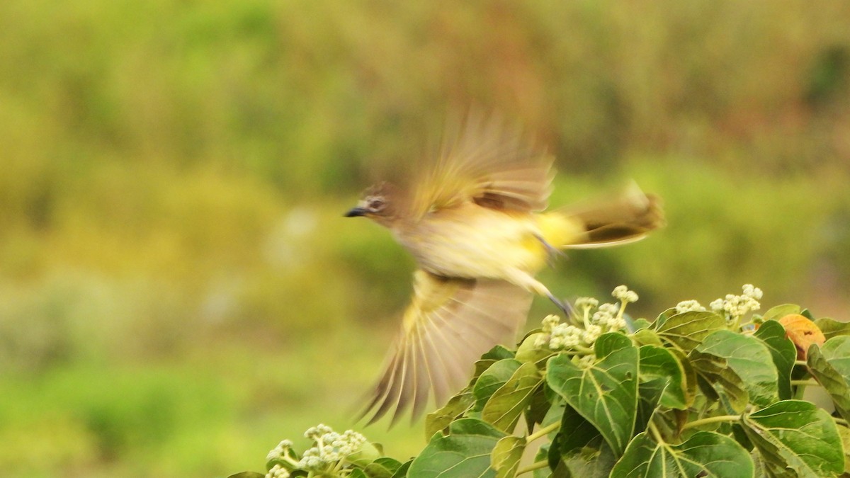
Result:
{"label": "pale green curved leaf just left of and below the orange leaf", "polygon": [[779,375],[770,350],[761,340],[731,330],[718,330],[696,350],[726,359],[728,367],[743,380],[753,403],[765,407],[779,400]]}

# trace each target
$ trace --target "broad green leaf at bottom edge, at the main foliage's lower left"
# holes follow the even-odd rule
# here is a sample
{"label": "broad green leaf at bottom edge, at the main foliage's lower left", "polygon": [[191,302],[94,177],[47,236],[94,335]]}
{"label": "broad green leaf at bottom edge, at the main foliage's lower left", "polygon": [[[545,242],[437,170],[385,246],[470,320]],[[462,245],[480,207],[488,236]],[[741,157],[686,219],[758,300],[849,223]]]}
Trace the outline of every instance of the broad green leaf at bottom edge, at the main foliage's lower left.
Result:
{"label": "broad green leaf at bottom edge, at the main foliage's lower left", "polygon": [[490,453],[505,436],[492,425],[475,418],[461,418],[449,426],[449,435],[434,434],[407,475],[417,478],[495,477]]}

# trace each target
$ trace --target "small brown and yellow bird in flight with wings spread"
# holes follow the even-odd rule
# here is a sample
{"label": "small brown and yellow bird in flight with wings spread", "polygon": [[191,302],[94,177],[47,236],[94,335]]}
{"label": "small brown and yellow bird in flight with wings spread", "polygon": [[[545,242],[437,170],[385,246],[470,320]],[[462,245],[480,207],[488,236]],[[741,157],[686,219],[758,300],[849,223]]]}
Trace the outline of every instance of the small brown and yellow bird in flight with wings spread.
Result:
{"label": "small brown and yellow bird in flight with wings spread", "polygon": [[554,157],[496,113],[468,111],[439,153],[405,185],[381,182],[346,217],[390,230],[416,261],[413,296],[360,418],[372,424],[444,403],[473,363],[513,343],[535,295],[558,299],[535,275],[565,248],[642,239],[664,225],[660,199],[637,185],[619,196],[546,211]]}

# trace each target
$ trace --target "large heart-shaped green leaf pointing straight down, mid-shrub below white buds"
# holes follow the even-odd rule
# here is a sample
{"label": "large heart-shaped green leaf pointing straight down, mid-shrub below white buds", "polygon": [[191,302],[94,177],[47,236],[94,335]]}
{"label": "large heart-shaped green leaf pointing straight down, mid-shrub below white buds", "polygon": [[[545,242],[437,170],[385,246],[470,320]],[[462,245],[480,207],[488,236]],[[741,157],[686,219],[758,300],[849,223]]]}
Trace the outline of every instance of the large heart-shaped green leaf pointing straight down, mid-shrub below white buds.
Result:
{"label": "large heart-shaped green leaf pointing straight down, mid-shrub below white buds", "polygon": [[596,363],[580,368],[569,356],[547,362],[547,384],[608,441],[616,456],[632,437],[638,411],[638,348],[621,333],[594,345]]}

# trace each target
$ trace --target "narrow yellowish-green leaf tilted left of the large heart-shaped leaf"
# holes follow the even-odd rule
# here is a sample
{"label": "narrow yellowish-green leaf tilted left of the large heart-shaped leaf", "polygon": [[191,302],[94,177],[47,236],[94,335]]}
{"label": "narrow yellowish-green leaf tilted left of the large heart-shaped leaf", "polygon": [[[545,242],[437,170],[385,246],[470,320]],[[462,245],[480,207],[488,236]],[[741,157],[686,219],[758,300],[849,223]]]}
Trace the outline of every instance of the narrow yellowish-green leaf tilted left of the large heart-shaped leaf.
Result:
{"label": "narrow yellowish-green leaf tilted left of the large heart-shaped leaf", "polygon": [[499,430],[513,433],[519,416],[531,399],[531,393],[542,382],[543,378],[535,364],[523,363],[505,384],[493,392],[481,411],[481,418]]}

